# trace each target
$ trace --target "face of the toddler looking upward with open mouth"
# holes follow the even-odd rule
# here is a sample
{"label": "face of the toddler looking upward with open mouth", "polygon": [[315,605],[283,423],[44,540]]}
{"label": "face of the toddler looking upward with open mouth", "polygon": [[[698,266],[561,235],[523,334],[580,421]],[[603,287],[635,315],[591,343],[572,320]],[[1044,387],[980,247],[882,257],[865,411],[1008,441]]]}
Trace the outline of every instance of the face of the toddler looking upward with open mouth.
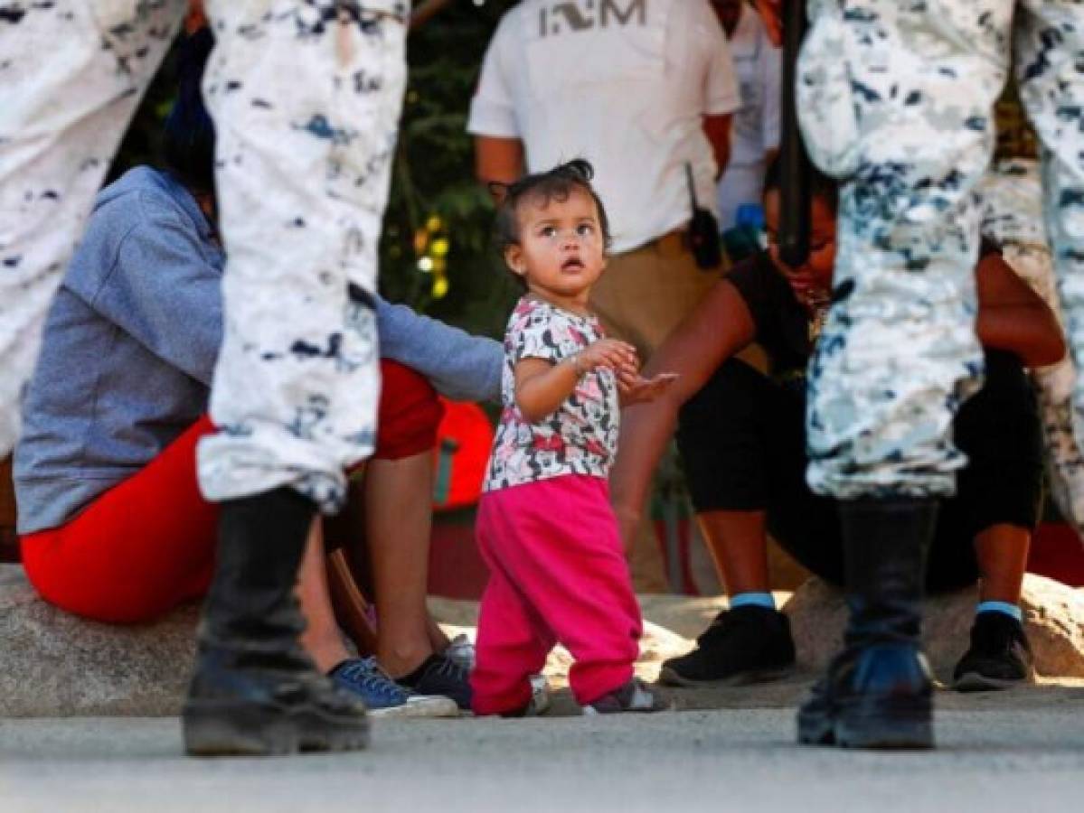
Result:
{"label": "face of the toddler looking upward with open mouth", "polygon": [[594,199],[575,188],[565,200],[526,197],[516,217],[519,244],[508,246],[504,260],[546,300],[585,305],[591,286],[606,267],[602,223]]}

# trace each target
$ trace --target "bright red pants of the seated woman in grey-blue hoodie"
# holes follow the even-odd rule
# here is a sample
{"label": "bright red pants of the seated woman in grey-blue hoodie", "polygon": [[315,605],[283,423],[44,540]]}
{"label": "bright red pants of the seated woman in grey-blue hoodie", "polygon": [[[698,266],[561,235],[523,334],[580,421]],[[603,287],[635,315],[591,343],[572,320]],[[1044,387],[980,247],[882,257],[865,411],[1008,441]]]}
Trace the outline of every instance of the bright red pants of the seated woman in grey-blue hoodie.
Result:
{"label": "bright red pants of the seated woman in grey-blue hoodie", "polygon": [[[443,407],[429,382],[395,362],[382,362],[380,373],[374,457],[431,449]],[[23,537],[23,566],[41,598],[95,620],[137,622],[206,592],[218,510],[199,495],[195,447],[212,430],[201,418],[75,519]]]}

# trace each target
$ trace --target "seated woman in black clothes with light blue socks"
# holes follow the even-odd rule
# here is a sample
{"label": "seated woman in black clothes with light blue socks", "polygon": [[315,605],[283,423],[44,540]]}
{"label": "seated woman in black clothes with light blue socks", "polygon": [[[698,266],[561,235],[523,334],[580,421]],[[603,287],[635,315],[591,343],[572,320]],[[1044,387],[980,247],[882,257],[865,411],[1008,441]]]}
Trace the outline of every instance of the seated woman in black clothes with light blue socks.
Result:
{"label": "seated woman in black clothes with light blue socks", "polygon": [[[681,373],[659,401],[627,411],[611,474],[622,533],[632,534],[650,473],[678,422],[678,444],[700,527],[730,595],[688,655],[664,665],[672,684],[756,681],[795,659],[790,628],[769,585],[765,534],[814,574],[843,581],[833,500],[805,484],[805,366],[816,328],[814,303],[827,302],[835,259],[836,189],[814,181],[811,251],[800,268],[778,259],[777,167],[764,208],[770,248],[737,265],[668,338],[644,370]],[[983,390],[954,423],[970,461],[957,495],[941,504],[928,569],[932,591],[981,578],[971,645],[955,669],[960,690],[1004,686],[1031,672],[1018,606],[1041,494],[1041,435],[1024,366],[1064,353],[1054,314],[992,246],[976,268],[977,331],[985,350]],[[734,354],[752,342],[766,351],[763,375]]]}

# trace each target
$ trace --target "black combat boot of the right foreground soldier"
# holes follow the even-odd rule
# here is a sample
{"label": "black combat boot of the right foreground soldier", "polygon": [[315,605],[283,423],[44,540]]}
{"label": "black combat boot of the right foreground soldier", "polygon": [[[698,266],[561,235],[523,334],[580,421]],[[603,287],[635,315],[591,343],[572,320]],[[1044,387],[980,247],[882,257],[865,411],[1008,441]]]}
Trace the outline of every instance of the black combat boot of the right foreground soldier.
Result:
{"label": "black combat boot of the right foreground soldier", "polygon": [[932,748],[932,680],[919,628],[937,501],[841,501],[840,519],[851,617],[843,651],[798,710],[798,742]]}

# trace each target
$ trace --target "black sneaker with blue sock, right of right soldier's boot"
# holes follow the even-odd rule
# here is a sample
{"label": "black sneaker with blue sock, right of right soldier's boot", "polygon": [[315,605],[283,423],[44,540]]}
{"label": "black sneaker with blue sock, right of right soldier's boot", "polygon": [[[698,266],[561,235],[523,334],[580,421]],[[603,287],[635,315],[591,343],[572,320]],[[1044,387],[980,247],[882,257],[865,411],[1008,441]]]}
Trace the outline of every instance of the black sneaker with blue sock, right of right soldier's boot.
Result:
{"label": "black sneaker with blue sock, right of right soldier's boot", "polygon": [[971,627],[971,646],[953,670],[953,689],[1009,689],[1034,676],[1034,660],[1020,621],[1005,613],[979,613]]}

